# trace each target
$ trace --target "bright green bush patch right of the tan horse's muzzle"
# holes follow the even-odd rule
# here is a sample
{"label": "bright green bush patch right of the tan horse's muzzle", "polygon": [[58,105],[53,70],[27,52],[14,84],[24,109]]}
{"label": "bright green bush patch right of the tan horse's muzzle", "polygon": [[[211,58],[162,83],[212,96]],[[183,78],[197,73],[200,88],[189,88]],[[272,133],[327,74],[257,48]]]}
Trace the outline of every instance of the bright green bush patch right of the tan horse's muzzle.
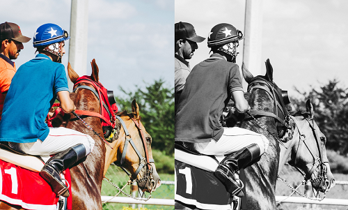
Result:
{"label": "bright green bush patch right of the tan horse's muzzle", "polygon": [[152,156],[155,160],[156,170],[158,173],[174,174],[174,156],[166,156],[163,151],[154,149],[152,149]]}

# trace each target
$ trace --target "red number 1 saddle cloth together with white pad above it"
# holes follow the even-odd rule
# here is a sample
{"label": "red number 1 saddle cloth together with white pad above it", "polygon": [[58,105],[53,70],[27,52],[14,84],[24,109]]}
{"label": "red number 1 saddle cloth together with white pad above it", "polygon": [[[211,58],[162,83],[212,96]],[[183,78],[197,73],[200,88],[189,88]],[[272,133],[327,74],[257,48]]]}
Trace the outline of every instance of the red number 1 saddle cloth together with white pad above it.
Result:
{"label": "red number 1 saddle cloth together with white pad above it", "polygon": [[[0,200],[24,209],[56,210],[65,206],[71,209],[71,195],[68,200],[56,197],[51,186],[40,177],[39,172],[49,158],[15,151],[0,143]],[[61,177],[71,186],[69,170],[65,170]]]}

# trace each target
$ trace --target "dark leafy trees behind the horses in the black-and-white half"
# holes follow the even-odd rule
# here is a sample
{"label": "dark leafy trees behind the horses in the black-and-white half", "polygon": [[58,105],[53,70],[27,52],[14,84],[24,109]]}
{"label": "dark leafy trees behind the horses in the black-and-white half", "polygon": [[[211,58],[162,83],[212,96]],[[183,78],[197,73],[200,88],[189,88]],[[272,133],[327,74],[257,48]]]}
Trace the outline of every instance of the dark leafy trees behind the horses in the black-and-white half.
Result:
{"label": "dark leafy trees behind the horses in the black-and-white half", "polygon": [[[348,91],[338,87],[338,80],[329,80],[319,90],[312,89],[301,92],[310,99],[315,110],[315,121],[322,133],[326,135],[326,148],[341,154],[348,152]],[[306,110],[306,100],[292,98],[296,110]]]}

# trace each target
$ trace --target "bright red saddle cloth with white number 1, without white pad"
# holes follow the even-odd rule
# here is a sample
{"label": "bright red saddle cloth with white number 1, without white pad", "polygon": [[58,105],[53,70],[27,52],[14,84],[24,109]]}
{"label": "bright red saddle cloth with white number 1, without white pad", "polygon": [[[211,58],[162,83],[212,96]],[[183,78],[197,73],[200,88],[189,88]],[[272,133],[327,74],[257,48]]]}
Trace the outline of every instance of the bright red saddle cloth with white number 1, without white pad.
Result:
{"label": "bright red saddle cloth with white number 1, without white pad", "polygon": [[[71,183],[69,178],[70,172],[65,172],[65,179]],[[23,209],[56,210],[58,199],[38,172],[0,160],[0,200]],[[67,209],[71,209],[71,194]]]}

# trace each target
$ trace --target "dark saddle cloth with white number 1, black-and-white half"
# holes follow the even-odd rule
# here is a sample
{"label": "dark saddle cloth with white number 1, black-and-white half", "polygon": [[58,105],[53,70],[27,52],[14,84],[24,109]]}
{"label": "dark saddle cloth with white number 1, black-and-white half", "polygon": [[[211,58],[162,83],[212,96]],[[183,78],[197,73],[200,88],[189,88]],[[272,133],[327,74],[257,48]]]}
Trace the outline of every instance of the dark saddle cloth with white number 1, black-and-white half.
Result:
{"label": "dark saddle cloth with white number 1, black-and-white half", "polygon": [[175,160],[175,200],[199,209],[231,209],[233,198],[212,172]]}

